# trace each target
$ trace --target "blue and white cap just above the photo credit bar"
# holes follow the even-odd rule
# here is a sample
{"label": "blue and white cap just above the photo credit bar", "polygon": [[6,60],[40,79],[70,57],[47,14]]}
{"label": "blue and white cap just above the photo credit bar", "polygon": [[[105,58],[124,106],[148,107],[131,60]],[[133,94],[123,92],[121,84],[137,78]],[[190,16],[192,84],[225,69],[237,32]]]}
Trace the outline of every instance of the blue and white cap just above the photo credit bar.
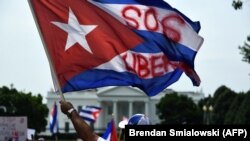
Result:
{"label": "blue and white cap just above the photo credit bar", "polygon": [[150,125],[149,118],[144,114],[135,114],[128,120],[128,125]]}

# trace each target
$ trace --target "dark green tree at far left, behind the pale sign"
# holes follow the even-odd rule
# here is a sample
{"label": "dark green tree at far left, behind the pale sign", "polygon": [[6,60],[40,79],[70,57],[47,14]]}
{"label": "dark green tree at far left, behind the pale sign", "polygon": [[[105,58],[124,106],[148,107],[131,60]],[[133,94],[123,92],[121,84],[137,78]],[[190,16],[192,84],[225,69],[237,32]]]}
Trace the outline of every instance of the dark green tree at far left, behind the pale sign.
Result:
{"label": "dark green tree at far left, behind the pale sign", "polygon": [[27,116],[28,128],[36,132],[45,131],[48,117],[47,105],[42,103],[42,96],[32,96],[31,93],[19,92],[15,88],[3,86],[0,88],[0,116]]}

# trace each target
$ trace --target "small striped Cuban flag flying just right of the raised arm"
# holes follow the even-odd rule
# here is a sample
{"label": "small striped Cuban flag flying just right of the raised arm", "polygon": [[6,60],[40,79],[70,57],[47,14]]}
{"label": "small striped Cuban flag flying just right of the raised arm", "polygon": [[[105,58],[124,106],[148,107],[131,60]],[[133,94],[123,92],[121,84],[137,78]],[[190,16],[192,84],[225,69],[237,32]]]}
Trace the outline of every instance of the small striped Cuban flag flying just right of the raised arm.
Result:
{"label": "small striped Cuban flag flying just right of the raised arm", "polygon": [[99,117],[101,110],[101,107],[87,105],[82,107],[79,112],[79,115],[88,123],[94,123]]}

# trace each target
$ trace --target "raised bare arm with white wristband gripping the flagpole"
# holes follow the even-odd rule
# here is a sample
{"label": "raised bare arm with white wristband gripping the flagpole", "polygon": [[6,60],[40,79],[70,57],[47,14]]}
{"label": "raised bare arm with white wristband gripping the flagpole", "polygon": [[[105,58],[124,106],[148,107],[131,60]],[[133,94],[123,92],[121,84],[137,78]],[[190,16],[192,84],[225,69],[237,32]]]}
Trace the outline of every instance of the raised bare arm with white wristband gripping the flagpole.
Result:
{"label": "raised bare arm with white wristband gripping the flagpole", "polygon": [[[78,136],[84,141],[97,141],[99,136],[82,119],[76,110],[70,110],[74,108],[73,105],[66,101],[60,101],[60,104],[61,111],[70,118]],[[71,113],[68,112],[69,110]]]}

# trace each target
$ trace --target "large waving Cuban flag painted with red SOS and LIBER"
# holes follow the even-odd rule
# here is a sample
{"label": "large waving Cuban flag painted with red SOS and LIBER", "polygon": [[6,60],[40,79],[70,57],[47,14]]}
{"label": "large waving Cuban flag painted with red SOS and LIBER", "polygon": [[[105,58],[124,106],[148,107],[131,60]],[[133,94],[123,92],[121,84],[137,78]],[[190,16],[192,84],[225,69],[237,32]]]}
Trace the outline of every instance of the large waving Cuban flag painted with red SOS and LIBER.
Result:
{"label": "large waving Cuban flag painted with red SOS and LIBER", "polygon": [[134,86],[154,96],[194,70],[203,43],[193,22],[163,0],[30,0],[63,93]]}

